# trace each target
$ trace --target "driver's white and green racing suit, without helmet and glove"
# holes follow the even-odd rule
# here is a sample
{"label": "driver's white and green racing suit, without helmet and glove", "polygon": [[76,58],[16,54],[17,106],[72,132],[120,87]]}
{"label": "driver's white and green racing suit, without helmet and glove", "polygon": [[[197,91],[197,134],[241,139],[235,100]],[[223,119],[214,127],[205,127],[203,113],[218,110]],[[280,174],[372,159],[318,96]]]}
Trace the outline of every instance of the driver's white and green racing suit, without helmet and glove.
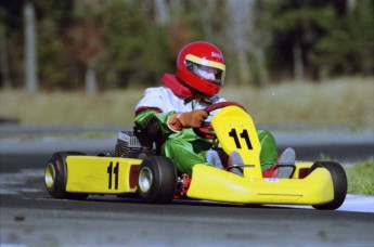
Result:
{"label": "driver's white and green racing suit, without helmet and glove", "polygon": [[[211,98],[210,104],[224,101],[216,95]],[[151,139],[162,140],[162,153],[173,161],[179,174],[192,176],[192,168],[197,164],[212,166],[205,159],[206,151],[211,148],[211,140],[197,136],[191,128],[173,131],[168,119],[176,113],[204,109],[208,105],[202,101],[185,101],[170,88],[149,88],[136,106],[134,123]],[[270,132],[258,130],[257,134],[261,143],[260,161],[263,171],[272,167],[278,158],[276,144]]]}

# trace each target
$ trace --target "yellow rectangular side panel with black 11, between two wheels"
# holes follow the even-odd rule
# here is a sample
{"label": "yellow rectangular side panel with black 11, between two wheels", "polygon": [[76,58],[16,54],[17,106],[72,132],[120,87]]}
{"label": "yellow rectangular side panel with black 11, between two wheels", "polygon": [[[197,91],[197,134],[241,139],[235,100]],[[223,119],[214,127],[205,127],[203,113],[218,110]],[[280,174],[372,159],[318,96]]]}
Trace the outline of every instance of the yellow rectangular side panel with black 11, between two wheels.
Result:
{"label": "yellow rectangular side panel with black 11, between two wheels", "polygon": [[141,159],[68,156],[66,192],[91,194],[132,193]]}

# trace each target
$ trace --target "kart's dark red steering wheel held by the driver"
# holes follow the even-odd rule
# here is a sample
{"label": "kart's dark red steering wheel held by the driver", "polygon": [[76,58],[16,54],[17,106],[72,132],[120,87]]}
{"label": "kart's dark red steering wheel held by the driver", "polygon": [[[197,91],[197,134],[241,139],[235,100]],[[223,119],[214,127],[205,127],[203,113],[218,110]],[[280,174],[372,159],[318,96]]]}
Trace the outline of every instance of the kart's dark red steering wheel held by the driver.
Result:
{"label": "kart's dark red steering wheel held by the driver", "polygon": [[[244,109],[245,112],[247,112],[242,104],[233,102],[233,101],[219,102],[216,104],[211,104],[205,107],[203,110],[205,110],[207,114],[210,114],[212,110],[220,109],[227,106],[237,106]],[[193,128],[193,131],[195,132],[195,134],[197,134],[198,136],[203,139],[217,139],[217,135],[214,132],[212,126],[210,125],[209,121],[205,121],[203,126],[199,128]]]}

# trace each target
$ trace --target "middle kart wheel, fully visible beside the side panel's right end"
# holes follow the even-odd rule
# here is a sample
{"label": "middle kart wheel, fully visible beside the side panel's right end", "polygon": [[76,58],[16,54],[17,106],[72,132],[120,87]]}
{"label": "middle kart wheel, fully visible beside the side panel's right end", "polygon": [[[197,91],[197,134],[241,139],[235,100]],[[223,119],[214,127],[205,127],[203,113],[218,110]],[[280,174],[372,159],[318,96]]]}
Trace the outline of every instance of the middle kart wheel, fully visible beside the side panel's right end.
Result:
{"label": "middle kart wheel, fully visible beside the side panel's right end", "polygon": [[138,172],[138,193],[145,203],[168,204],[177,188],[177,170],[172,161],[163,156],[143,159]]}

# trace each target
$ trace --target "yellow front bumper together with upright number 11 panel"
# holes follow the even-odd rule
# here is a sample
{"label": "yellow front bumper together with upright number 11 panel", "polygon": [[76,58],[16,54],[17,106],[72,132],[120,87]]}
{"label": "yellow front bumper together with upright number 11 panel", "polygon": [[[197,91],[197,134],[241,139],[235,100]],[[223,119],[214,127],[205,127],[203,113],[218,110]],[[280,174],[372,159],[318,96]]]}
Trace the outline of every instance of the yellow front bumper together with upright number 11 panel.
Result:
{"label": "yellow front bumper together with upright number 11 panel", "polygon": [[228,106],[218,112],[211,125],[223,151],[236,151],[243,158],[243,177],[214,167],[196,165],[188,196],[241,204],[298,204],[319,205],[334,199],[334,185],[327,169],[315,169],[299,179],[301,169],[311,162],[297,162],[291,179],[262,178],[261,145],[250,116],[242,108]]}

